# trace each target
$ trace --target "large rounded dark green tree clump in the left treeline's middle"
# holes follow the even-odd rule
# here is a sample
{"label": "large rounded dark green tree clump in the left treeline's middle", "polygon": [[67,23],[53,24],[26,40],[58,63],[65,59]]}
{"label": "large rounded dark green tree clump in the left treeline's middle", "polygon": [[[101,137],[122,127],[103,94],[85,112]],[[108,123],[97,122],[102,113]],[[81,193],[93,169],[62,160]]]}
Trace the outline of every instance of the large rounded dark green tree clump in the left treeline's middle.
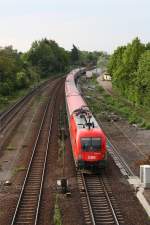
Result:
{"label": "large rounded dark green tree clump in the left treeline's middle", "polygon": [[33,42],[27,59],[42,77],[65,71],[69,63],[68,53],[55,41],[47,39]]}

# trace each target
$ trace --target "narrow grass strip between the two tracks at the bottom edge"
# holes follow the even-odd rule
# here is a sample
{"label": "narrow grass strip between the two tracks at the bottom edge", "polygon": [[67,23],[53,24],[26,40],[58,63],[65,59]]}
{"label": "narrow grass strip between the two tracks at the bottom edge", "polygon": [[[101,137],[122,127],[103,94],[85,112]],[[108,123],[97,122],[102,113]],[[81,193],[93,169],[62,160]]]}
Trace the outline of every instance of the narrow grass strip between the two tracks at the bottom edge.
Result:
{"label": "narrow grass strip between the two tracks at the bottom edge", "polygon": [[59,195],[57,194],[55,198],[55,206],[54,206],[54,217],[53,217],[54,225],[62,225],[62,216],[61,216],[58,200],[59,200]]}

